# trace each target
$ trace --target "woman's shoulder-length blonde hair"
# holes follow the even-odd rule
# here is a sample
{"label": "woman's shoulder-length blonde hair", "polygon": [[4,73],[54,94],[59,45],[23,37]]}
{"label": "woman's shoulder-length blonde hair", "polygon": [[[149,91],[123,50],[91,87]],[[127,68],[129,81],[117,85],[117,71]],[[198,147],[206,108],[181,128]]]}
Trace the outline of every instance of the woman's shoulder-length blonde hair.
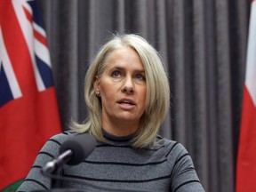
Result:
{"label": "woman's shoulder-length blonde hair", "polygon": [[72,129],[76,132],[90,132],[96,140],[106,141],[101,130],[101,102],[94,93],[93,83],[95,77],[100,76],[104,71],[104,64],[109,54],[123,47],[134,49],[139,54],[145,69],[146,110],[140,119],[140,129],[131,143],[135,148],[146,148],[154,143],[159,127],[168,112],[170,88],[159,54],[141,36],[133,34],[114,36],[100,48],[85,76],[84,98],[89,119],[84,124],[73,122]]}

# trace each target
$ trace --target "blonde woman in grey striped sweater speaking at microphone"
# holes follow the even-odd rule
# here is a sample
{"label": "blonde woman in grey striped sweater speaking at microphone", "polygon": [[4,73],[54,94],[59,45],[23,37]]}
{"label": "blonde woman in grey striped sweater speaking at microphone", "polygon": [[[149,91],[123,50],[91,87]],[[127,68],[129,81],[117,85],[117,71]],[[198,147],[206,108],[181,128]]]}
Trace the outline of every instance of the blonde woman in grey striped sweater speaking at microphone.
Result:
{"label": "blonde woman in grey striped sweater speaking at microphone", "polygon": [[[170,90],[156,50],[140,36],[104,44],[85,76],[89,119],[48,140],[19,191],[48,189],[41,167],[62,142],[89,132],[97,147],[83,163],[64,165],[63,188],[84,191],[204,191],[187,150],[157,135],[169,109]],[[83,183],[82,183],[83,182]]]}

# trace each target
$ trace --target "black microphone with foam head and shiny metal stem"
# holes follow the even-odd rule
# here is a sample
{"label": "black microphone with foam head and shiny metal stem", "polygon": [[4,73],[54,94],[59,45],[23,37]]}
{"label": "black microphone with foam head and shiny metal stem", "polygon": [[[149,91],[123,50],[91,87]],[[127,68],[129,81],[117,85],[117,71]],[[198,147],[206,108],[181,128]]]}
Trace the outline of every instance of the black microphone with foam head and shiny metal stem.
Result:
{"label": "black microphone with foam head and shiny metal stem", "polygon": [[71,137],[60,146],[60,155],[46,163],[42,172],[57,172],[63,164],[80,164],[95,147],[96,140],[91,134],[78,134]]}

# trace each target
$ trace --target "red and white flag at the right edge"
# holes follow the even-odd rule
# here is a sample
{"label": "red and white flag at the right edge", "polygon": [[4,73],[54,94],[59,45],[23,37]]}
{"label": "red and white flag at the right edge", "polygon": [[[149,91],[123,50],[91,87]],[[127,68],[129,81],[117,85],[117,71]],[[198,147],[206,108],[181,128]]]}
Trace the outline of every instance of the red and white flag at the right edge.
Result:
{"label": "red and white flag at the right edge", "polygon": [[256,1],[252,1],[242,122],[236,167],[236,192],[256,191]]}

